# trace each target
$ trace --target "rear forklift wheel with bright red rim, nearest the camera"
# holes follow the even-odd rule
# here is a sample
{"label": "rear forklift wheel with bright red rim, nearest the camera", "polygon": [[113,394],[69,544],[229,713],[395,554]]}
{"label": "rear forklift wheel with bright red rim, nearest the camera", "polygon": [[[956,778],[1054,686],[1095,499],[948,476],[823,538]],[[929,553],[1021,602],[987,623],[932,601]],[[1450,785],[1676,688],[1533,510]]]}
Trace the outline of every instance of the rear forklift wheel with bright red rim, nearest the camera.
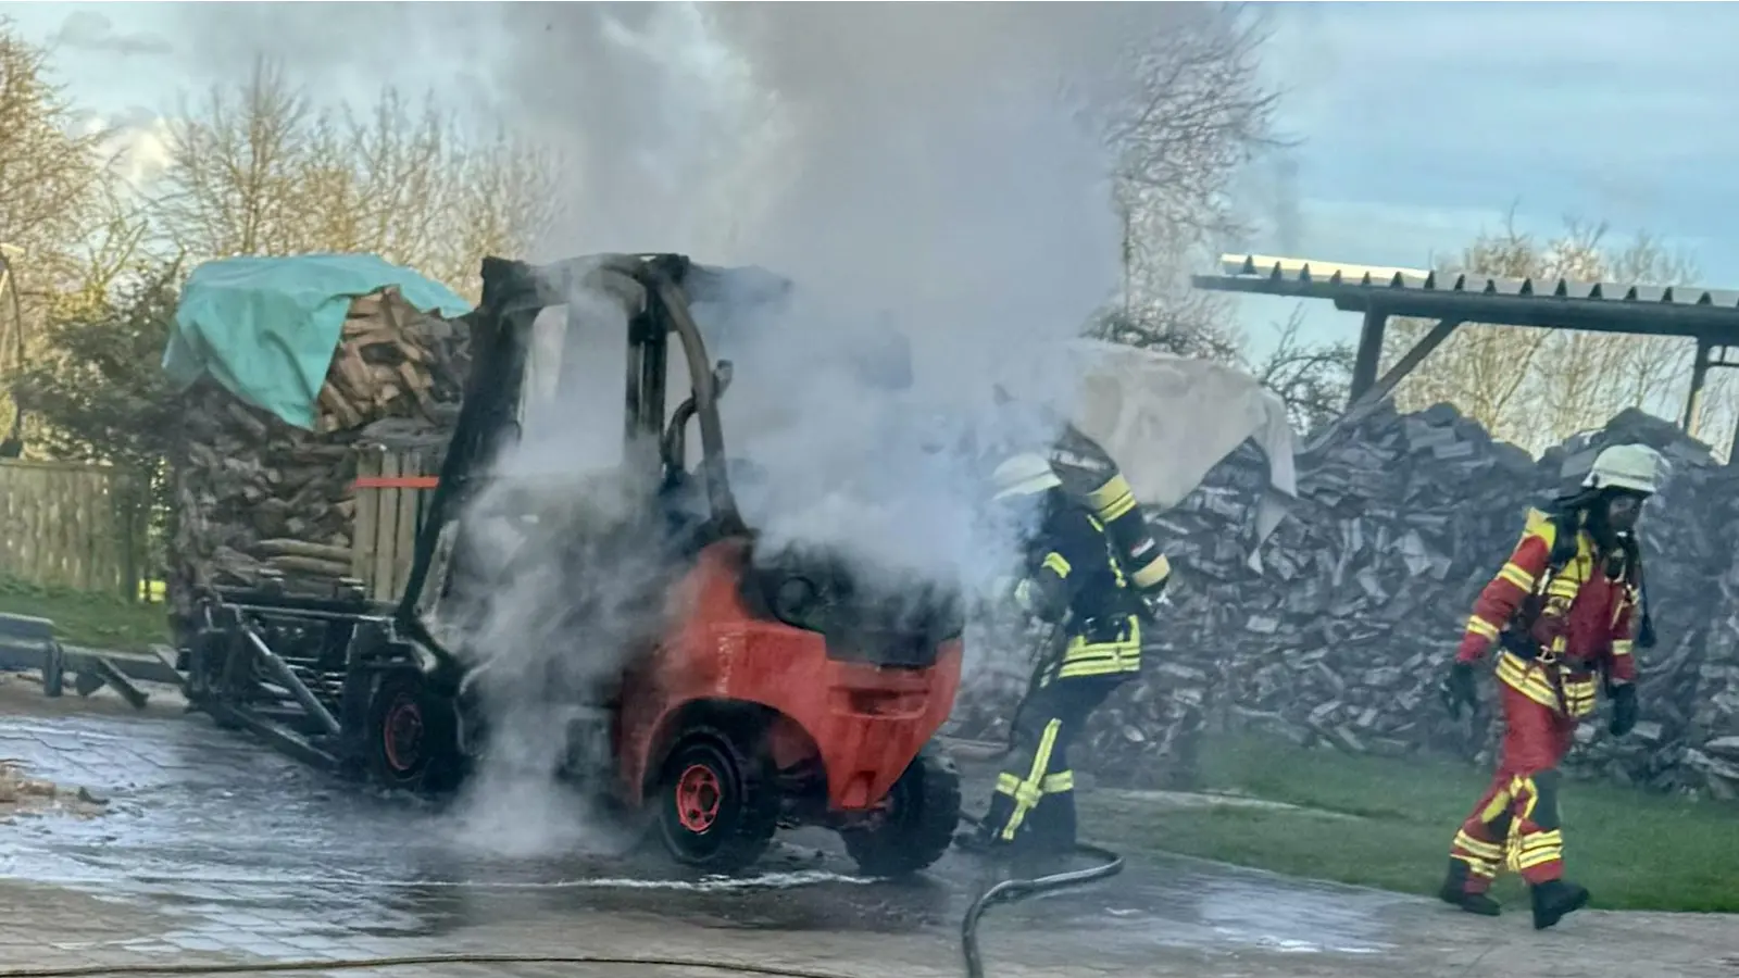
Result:
{"label": "rear forklift wheel with bright red rim, nearest the camera", "polygon": [[654,797],[659,841],[678,863],[716,874],[748,868],[779,828],[779,794],[758,750],[696,727],[678,738]]}

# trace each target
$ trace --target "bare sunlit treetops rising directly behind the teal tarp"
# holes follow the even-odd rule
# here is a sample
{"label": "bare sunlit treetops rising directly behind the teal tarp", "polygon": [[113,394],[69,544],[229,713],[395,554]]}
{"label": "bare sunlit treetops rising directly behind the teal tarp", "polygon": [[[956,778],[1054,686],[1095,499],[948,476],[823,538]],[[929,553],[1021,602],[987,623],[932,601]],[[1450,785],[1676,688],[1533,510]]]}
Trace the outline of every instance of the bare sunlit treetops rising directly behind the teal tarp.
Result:
{"label": "bare sunlit treetops rising directly behind the teal tarp", "polygon": [[466,132],[386,89],[365,113],[316,111],[266,59],[170,131],[163,233],[195,259],[372,252],[475,298],[478,259],[529,247],[556,211],[555,160]]}

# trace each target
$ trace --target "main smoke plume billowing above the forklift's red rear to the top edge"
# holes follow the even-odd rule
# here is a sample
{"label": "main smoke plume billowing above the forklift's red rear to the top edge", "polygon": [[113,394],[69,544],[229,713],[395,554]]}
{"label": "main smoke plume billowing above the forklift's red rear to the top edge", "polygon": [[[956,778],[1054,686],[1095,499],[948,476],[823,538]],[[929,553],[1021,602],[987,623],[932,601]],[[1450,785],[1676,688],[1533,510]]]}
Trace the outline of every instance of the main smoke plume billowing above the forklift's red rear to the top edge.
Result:
{"label": "main smoke plume billowing above the forklift's red rear to the top edge", "polygon": [[[520,16],[541,30],[518,35],[522,70],[499,96],[581,160],[574,221],[550,254],[683,251],[796,285],[781,318],[715,336],[713,355],[737,376],[723,399],[727,444],[763,473],[737,487],[751,522],[772,541],[845,546],[899,574],[1005,569],[1007,534],[962,526],[983,510],[981,487],[958,459],[922,449],[958,433],[943,425],[988,421],[991,378],[1078,334],[1113,296],[1109,160],[1080,92],[1103,89],[1083,71],[1116,61],[1094,42],[1125,16],[941,5]],[[859,379],[868,324],[909,338],[909,392]],[[1071,381],[1040,374],[1017,393],[1057,400]]]}

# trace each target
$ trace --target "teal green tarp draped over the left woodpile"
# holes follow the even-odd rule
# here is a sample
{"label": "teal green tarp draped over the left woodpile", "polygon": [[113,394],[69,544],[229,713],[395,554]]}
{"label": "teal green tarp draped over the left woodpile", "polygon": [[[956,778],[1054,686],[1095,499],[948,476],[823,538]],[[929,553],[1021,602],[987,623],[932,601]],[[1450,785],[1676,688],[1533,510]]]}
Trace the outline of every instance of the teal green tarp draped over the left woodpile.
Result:
{"label": "teal green tarp draped over the left woodpile", "polygon": [[183,388],[209,374],[242,400],[313,430],[350,301],[386,285],[421,311],[450,318],[471,310],[452,289],[372,254],[207,261],[181,291],[163,372]]}

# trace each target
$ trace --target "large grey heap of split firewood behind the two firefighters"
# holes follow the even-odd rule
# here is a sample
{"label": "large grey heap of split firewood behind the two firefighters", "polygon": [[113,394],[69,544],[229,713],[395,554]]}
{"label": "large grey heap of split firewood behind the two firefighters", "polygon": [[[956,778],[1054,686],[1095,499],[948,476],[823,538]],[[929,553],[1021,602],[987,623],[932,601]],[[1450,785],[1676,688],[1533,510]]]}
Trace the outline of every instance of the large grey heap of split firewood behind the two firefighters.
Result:
{"label": "large grey heap of split firewood behind the two firefighters", "polygon": [[[1076,764],[1144,787],[1188,783],[1207,727],[1259,729],[1348,752],[1489,760],[1499,720],[1457,724],[1436,684],[1473,599],[1504,562],[1523,510],[1572,489],[1607,444],[1671,463],[1645,510],[1649,602],[1638,649],[1642,722],[1607,733],[1602,707],[1565,767],[1662,790],[1739,794],[1739,472],[1676,426],[1628,411],[1541,459],[1449,405],[1381,404],[1297,456],[1299,499],[1243,564],[1264,463],[1240,449],[1179,506],[1149,519],[1176,567],[1146,675],[1094,719]],[[1024,675],[970,684],[960,736],[1007,736]]]}

